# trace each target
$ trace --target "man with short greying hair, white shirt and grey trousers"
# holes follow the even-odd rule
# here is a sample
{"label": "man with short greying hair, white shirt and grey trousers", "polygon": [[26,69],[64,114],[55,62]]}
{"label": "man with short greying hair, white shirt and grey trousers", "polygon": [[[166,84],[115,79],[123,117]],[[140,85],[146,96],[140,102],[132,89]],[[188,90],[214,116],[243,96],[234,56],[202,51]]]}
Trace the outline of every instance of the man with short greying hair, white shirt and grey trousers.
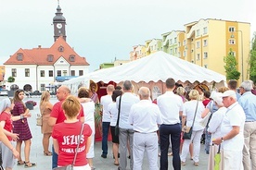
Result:
{"label": "man with short greying hair, white shirt and grey trousers", "polygon": [[[134,143],[134,129],[129,123],[128,118],[131,107],[134,103],[139,102],[139,98],[132,93],[133,85],[130,80],[125,80],[122,86],[122,98],[121,98],[121,109],[120,109],[120,133],[119,133],[119,152],[120,152],[120,166],[118,169],[125,170],[127,165],[127,142],[129,140],[131,150],[130,168],[133,170],[133,143]],[[120,97],[116,99],[117,109],[120,104]]]}

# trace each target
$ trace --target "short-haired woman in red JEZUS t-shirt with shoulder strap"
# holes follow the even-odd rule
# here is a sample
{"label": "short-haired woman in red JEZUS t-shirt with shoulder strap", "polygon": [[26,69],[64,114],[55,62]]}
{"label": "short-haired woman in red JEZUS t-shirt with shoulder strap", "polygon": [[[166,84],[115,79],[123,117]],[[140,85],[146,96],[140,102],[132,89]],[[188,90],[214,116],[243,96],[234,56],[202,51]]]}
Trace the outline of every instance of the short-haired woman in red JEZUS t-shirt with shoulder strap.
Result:
{"label": "short-haired woman in red JEZUS t-shirt with shoulder strap", "polygon": [[[91,145],[92,129],[87,124],[83,126],[83,122],[77,119],[81,104],[76,97],[70,95],[64,100],[61,107],[66,120],[56,124],[52,133],[54,150],[58,154],[58,167],[72,164],[75,152],[77,152],[73,170],[91,170],[86,160],[86,154]],[[81,139],[80,134],[82,134]],[[80,143],[79,148],[76,150],[78,143]]]}

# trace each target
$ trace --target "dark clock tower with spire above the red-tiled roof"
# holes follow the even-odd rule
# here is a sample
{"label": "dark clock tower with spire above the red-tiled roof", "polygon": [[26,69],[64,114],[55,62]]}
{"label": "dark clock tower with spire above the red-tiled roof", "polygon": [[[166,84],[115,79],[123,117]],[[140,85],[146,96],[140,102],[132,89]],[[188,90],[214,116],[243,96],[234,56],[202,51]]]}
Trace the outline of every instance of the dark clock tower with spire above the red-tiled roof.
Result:
{"label": "dark clock tower with spire above the red-tiled roof", "polygon": [[56,16],[53,18],[54,25],[54,41],[58,39],[59,36],[63,36],[63,39],[66,41],[66,18],[62,16],[61,8],[58,4]]}

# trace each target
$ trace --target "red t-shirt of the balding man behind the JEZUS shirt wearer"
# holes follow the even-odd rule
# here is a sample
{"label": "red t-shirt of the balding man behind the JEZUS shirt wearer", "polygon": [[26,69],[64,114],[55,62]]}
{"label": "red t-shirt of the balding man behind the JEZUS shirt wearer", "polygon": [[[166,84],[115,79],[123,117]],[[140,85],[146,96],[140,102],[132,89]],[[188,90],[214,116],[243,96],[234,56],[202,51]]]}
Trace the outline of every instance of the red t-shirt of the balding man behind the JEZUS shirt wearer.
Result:
{"label": "red t-shirt of the balding man behind the JEZUS shirt wearer", "polygon": [[[64,115],[63,109],[61,107],[61,104],[64,102],[60,101],[58,103],[55,103],[51,112],[51,116],[57,118],[56,120],[56,124],[64,122],[64,120],[66,120],[66,117]],[[83,106],[81,105],[81,109],[80,109],[80,114],[77,116],[78,119],[80,119],[80,117],[83,117],[84,113],[83,113]]]}

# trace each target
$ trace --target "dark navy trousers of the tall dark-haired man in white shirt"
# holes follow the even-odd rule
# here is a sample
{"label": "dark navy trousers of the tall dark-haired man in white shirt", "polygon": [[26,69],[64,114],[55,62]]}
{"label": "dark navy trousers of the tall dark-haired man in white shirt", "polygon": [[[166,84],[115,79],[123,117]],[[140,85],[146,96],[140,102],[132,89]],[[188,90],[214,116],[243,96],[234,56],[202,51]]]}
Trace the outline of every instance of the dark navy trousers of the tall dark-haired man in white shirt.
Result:
{"label": "dark navy trousers of the tall dark-haired man in white shirt", "polygon": [[173,152],[173,169],[180,170],[181,124],[160,125],[160,170],[168,169],[168,149],[170,145],[170,135]]}

